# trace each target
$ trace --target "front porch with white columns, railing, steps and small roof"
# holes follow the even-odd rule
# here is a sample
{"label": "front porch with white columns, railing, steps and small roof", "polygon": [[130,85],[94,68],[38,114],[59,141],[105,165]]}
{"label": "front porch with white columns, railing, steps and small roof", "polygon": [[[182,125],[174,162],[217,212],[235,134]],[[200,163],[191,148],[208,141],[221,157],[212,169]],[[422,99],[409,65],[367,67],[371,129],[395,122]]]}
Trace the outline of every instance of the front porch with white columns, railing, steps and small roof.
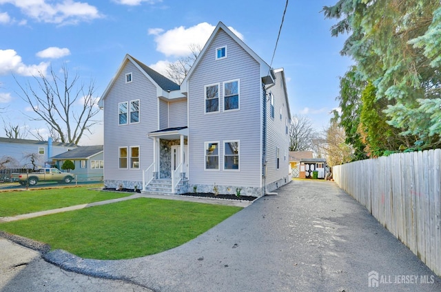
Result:
{"label": "front porch with white columns, railing, steps and small roof", "polygon": [[148,134],[153,163],[143,170],[142,192],[181,194],[188,190],[188,128],[166,128]]}

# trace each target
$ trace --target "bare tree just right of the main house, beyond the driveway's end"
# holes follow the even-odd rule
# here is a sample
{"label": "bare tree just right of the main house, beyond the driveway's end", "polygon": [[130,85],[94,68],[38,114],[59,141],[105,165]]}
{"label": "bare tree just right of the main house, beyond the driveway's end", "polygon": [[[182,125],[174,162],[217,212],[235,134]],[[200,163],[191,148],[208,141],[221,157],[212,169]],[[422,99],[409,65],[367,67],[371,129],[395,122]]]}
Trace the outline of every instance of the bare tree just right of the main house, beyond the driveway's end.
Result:
{"label": "bare tree just right of the main house, beyond the driveway's end", "polygon": [[289,151],[314,150],[316,131],[311,120],[304,115],[294,115],[289,125]]}

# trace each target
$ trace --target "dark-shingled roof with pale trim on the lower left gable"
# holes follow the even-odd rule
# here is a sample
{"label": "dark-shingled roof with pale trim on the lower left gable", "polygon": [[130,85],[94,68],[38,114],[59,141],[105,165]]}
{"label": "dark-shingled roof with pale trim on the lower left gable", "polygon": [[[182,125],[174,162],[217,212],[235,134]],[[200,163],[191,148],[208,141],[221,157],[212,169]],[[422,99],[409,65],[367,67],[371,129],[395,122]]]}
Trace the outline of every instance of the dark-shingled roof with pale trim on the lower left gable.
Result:
{"label": "dark-shingled roof with pale trim on the lower left gable", "polygon": [[107,96],[107,93],[109,93],[110,89],[112,88],[112,85],[114,85],[114,82],[116,82],[116,78],[120,76],[121,71],[123,71],[123,68],[125,67],[125,64],[127,62],[131,62],[136,68],[141,71],[141,73],[150,80],[153,85],[156,87],[156,95],[157,97],[160,96],[169,96],[170,91],[177,91],[179,89],[179,85],[177,85],[172,80],[168,79],[167,77],[159,74],[158,72],[154,71],[154,69],[148,67],[147,65],[141,63],[139,60],[136,60],[129,54],[126,54],[123,58],[123,62],[121,62],[121,65],[119,65],[118,70],[116,71],[116,74],[110,80],[109,84],[105,88],[103,95],[101,96],[101,99],[98,102],[99,107],[103,108],[103,100]]}

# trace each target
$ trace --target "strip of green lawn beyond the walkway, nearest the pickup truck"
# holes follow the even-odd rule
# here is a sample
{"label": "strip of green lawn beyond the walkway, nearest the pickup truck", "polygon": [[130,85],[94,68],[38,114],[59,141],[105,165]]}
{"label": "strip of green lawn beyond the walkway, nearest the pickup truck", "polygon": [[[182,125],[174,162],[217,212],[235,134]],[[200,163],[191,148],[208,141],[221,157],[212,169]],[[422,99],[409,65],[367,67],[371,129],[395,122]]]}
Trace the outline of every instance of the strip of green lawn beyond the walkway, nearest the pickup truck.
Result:
{"label": "strip of green lawn beyond the walkway, nearest the pickup truck", "polygon": [[0,192],[0,217],[105,201],[133,194],[129,192],[101,192],[89,190],[90,188],[94,188],[94,186]]}

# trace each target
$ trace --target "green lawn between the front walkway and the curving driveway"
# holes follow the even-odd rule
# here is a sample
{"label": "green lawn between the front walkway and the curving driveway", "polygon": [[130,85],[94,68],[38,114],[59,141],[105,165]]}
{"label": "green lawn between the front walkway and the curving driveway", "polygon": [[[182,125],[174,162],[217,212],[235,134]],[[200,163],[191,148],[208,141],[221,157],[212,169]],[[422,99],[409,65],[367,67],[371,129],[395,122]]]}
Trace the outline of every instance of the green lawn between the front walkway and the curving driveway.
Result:
{"label": "green lawn between the front walkway and the curving driveway", "polygon": [[0,229],[81,258],[118,260],[182,245],[241,209],[139,198],[1,223]]}

